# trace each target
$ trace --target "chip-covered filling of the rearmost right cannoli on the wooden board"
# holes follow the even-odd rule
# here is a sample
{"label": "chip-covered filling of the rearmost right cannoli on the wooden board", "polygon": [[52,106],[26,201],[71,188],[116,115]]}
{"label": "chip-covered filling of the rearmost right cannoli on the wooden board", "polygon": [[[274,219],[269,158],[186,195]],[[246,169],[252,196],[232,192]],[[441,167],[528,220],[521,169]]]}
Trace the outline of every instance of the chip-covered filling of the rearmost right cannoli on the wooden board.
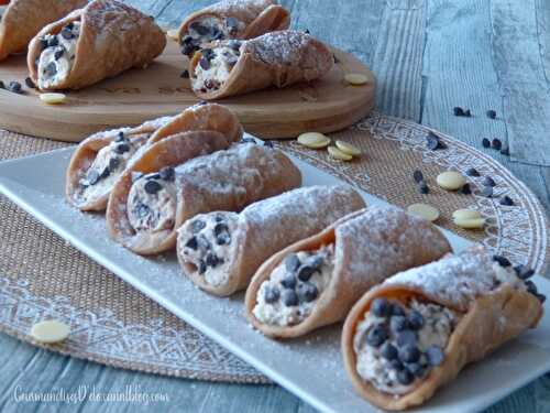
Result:
{"label": "chip-covered filling of the rearmost right cannoli on the wooden board", "polygon": [[245,26],[244,22],[235,18],[222,20],[215,17],[204,17],[196,19],[188,25],[187,32],[182,34],[179,40],[182,53],[190,57],[200,48],[200,45],[217,40],[235,39]]}

